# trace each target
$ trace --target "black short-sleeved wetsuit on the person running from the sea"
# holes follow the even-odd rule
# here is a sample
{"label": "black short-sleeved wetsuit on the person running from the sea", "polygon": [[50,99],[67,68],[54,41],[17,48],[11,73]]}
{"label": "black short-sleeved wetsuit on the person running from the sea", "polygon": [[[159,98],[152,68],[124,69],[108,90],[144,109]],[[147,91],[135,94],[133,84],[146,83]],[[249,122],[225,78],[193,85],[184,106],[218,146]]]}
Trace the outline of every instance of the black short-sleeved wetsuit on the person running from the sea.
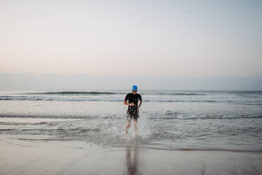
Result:
{"label": "black short-sleeved wetsuit on the person running from the sea", "polygon": [[138,100],[142,101],[142,97],[139,94],[129,93],[125,96],[125,100],[128,100],[128,103],[134,103],[134,106],[128,106],[127,109],[127,119],[137,119],[139,118],[139,111],[138,111]]}

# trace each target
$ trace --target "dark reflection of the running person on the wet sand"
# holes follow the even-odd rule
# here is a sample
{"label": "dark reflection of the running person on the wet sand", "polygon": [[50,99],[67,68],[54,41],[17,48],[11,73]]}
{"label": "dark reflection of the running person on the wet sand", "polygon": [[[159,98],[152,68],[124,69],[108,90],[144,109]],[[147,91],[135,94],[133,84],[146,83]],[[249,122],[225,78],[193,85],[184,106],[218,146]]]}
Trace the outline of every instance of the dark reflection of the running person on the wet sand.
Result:
{"label": "dark reflection of the running person on the wet sand", "polygon": [[[139,169],[137,166],[137,147],[126,147],[126,166],[127,166],[127,174],[139,174]],[[132,155],[133,152],[133,155]]]}

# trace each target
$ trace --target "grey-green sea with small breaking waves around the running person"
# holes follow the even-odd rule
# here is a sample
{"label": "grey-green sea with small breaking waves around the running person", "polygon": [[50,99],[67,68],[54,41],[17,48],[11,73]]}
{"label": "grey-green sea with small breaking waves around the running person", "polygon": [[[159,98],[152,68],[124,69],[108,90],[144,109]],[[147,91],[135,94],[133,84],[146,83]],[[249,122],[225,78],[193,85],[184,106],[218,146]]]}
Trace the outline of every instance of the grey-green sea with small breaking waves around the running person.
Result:
{"label": "grey-green sea with small breaking waves around the running person", "polygon": [[138,131],[125,134],[130,90],[0,91],[0,134],[101,147],[262,150],[262,91],[141,90]]}

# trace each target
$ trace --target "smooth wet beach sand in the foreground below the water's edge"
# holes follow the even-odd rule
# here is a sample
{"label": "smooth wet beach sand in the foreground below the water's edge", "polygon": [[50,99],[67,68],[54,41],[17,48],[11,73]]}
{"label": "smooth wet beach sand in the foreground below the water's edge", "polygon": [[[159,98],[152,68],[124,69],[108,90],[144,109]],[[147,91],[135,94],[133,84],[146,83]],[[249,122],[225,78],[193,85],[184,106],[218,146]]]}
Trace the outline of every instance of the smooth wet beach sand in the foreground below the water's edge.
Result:
{"label": "smooth wet beach sand in the foreground below the water's edge", "polygon": [[0,174],[261,174],[261,152],[101,147],[0,135]]}

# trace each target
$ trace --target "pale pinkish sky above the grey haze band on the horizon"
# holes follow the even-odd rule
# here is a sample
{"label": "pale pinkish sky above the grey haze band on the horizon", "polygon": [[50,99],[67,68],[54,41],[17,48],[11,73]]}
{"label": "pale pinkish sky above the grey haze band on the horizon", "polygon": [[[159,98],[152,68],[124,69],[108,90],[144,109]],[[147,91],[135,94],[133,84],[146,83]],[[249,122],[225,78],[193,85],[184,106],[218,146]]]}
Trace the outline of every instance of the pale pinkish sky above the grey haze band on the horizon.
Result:
{"label": "pale pinkish sky above the grey haze band on the horizon", "polygon": [[0,73],[262,77],[262,1],[0,0]]}

